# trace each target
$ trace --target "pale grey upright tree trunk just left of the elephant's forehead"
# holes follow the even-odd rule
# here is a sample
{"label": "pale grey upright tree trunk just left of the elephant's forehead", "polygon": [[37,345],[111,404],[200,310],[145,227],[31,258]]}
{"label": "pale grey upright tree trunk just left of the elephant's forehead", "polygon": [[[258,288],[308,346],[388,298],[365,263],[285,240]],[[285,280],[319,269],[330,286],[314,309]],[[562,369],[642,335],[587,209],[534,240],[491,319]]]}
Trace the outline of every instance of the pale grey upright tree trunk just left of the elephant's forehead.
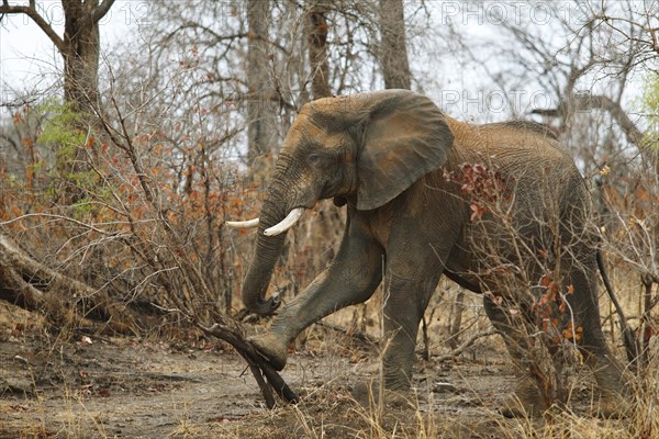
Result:
{"label": "pale grey upright tree trunk just left of the elephant's forehead", "polygon": [[249,0],[247,2],[247,138],[248,159],[252,175],[263,178],[268,171],[267,155],[275,144],[275,114],[272,100],[275,87],[269,71],[268,23],[270,22],[270,2]]}

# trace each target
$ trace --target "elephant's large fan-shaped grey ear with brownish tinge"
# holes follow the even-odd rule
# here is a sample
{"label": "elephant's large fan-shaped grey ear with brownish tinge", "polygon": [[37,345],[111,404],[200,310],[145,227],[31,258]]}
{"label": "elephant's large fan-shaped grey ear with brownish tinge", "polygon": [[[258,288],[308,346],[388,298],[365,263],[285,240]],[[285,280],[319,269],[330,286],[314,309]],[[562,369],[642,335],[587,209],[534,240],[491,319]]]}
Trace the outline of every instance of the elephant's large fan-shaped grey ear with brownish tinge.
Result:
{"label": "elephant's large fan-shaped grey ear with brownish tinge", "polygon": [[421,94],[376,92],[368,105],[357,164],[357,209],[364,211],[386,204],[442,167],[454,139],[442,111]]}

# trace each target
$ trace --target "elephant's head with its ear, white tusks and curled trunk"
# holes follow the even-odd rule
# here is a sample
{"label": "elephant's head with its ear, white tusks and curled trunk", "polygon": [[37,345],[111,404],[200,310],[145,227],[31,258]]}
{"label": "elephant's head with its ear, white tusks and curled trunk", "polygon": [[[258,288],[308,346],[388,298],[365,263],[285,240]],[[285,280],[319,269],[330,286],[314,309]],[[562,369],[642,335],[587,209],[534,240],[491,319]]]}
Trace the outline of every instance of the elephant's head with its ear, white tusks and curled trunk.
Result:
{"label": "elephant's head with its ear, white tusks and curled trunk", "polygon": [[283,232],[305,209],[331,198],[355,202],[358,210],[377,209],[439,168],[453,138],[439,109],[407,90],[325,98],[304,105],[281,146],[264,200],[243,285],[245,306],[258,314],[279,306],[278,297],[265,299],[266,291]]}

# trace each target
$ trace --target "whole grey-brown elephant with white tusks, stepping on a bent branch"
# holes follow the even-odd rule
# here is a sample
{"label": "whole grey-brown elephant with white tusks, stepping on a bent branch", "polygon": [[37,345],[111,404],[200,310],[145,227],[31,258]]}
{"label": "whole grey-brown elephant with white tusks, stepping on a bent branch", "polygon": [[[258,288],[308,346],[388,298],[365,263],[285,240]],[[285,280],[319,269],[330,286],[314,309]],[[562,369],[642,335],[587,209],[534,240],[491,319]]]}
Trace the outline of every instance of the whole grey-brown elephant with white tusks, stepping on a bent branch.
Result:
{"label": "whole grey-brown elephant with white tusks, stepping on a bent branch", "polygon": [[[474,177],[477,165],[480,175]],[[502,209],[479,205],[479,194],[480,202]],[[383,281],[390,338],[384,384],[409,389],[418,324],[442,274],[483,293],[488,316],[524,365],[525,341],[498,297],[532,292],[546,300],[554,285],[561,285],[569,316],[558,324],[558,334],[574,333],[599,384],[601,414],[625,407],[623,371],[600,322],[588,188],[541,125],[458,122],[428,98],[406,90],[308,103],[283,142],[267,188],[243,285],[248,309],[268,314],[278,308],[279,297],[266,296],[284,232],[304,210],[331,198],[347,204],[348,212],[336,257],[286,304],[266,334],[253,339],[276,369],[286,365],[288,346],[302,329],[367,301]],[[560,282],[547,282],[543,267],[550,267]],[[527,320],[538,320],[537,306],[538,301],[521,306]],[[530,412],[544,408],[530,378],[515,401]]]}

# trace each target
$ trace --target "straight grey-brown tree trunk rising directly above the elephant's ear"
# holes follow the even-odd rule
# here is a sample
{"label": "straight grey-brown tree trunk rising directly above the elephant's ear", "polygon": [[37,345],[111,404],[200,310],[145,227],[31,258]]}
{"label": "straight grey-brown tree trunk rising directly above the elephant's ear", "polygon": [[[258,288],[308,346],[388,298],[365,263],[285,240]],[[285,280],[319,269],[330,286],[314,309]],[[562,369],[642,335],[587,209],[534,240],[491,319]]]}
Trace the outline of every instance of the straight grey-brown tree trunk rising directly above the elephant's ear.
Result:
{"label": "straight grey-brown tree trunk rising directly above the elephant's ear", "polygon": [[388,89],[410,89],[403,0],[380,0],[380,67]]}

